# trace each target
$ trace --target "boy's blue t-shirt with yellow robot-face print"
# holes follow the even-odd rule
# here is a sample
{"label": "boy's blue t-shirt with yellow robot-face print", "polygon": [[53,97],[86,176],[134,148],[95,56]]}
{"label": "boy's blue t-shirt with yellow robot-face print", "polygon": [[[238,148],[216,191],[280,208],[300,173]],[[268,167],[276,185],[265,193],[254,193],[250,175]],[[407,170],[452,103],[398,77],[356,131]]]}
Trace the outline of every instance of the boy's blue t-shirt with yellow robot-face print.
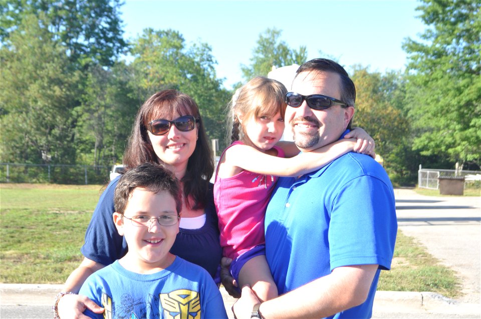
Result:
{"label": "boy's blue t-shirt with yellow robot-face print", "polygon": [[105,308],[84,312],[92,318],[227,318],[209,273],[178,256],[153,274],[128,271],[117,260],[90,275],[79,294]]}

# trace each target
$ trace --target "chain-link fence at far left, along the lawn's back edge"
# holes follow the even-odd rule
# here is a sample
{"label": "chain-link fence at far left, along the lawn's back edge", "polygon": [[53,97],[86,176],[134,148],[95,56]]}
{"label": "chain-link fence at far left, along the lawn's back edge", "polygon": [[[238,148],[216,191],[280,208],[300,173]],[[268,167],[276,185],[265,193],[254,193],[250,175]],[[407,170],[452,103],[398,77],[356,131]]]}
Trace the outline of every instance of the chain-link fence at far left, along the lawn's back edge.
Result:
{"label": "chain-link fence at far left, along the lawn's back edge", "polygon": [[0,163],[0,182],[104,184],[109,171],[105,165]]}

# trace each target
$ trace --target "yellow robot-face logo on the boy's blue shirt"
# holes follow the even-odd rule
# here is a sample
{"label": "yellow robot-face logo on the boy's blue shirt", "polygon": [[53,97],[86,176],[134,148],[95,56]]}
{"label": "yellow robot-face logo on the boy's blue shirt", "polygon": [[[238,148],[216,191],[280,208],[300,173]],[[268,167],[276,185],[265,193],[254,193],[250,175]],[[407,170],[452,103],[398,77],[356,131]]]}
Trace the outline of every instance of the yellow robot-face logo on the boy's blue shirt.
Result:
{"label": "yellow robot-face logo on the boy's blue shirt", "polygon": [[169,293],[160,293],[159,299],[165,318],[200,318],[200,297],[197,291],[179,289]]}

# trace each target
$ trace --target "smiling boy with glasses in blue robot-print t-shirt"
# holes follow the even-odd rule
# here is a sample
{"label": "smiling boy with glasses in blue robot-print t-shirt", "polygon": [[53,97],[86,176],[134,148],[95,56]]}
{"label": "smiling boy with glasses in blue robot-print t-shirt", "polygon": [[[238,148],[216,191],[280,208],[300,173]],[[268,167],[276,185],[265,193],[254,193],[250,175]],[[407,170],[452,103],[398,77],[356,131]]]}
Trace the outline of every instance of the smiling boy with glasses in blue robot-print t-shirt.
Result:
{"label": "smiling boy with glasses in blue robot-print t-shirt", "polygon": [[120,178],[114,223],[127,254],[87,278],[79,294],[104,307],[92,318],[227,318],[222,296],[202,267],[169,252],[182,198],[175,176],[145,163]]}

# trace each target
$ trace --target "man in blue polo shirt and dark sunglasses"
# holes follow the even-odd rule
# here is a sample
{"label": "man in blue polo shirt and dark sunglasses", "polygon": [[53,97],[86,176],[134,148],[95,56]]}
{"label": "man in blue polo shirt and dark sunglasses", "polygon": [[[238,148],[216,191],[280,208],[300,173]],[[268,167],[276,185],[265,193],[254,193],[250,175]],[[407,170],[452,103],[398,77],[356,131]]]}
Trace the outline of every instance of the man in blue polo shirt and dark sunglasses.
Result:
{"label": "man in blue polo shirt and dark sunglasses", "polygon": [[[296,72],[285,121],[302,151],[349,131],[356,90],[347,72],[314,59]],[[397,221],[392,184],[369,155],[350,152],[297,178],[281,177],[266,212],[266,257],[280,296],[260,303],[250,287],[237,318],[368,318]]]}

